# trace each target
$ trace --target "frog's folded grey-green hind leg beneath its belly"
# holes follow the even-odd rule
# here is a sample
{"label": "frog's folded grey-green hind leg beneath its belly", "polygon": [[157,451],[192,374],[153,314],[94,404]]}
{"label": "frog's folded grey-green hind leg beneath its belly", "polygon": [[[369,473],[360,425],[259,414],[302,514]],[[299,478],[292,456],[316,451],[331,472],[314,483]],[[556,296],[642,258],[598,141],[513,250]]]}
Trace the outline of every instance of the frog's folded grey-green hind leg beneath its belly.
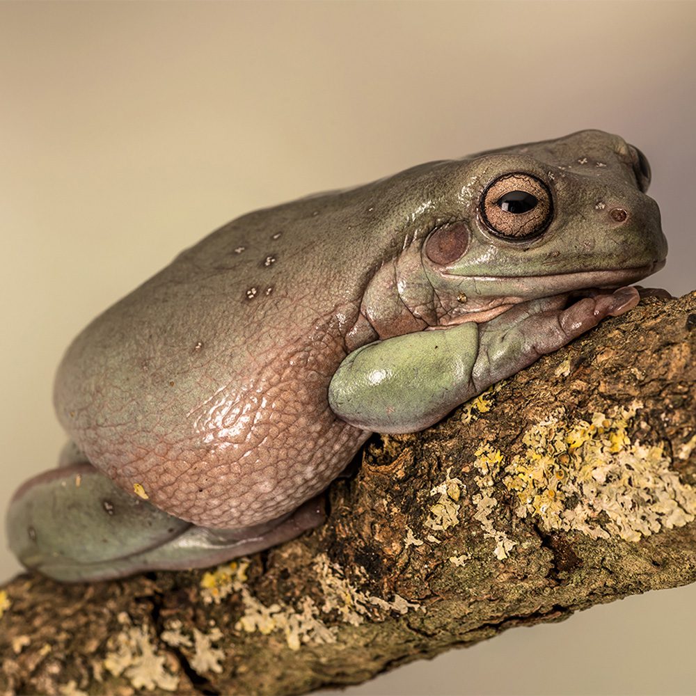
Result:
{"label": "frog's folded grey-green hind leg beneath its belly", "polygon": [[83,463],[27,481],[15,493],[7,527],[10,548],[26,567],[81,582],[207,567],[280,544],[325,519],[322,498],[313,498],[279,519],[249,527],[196,527]]}

